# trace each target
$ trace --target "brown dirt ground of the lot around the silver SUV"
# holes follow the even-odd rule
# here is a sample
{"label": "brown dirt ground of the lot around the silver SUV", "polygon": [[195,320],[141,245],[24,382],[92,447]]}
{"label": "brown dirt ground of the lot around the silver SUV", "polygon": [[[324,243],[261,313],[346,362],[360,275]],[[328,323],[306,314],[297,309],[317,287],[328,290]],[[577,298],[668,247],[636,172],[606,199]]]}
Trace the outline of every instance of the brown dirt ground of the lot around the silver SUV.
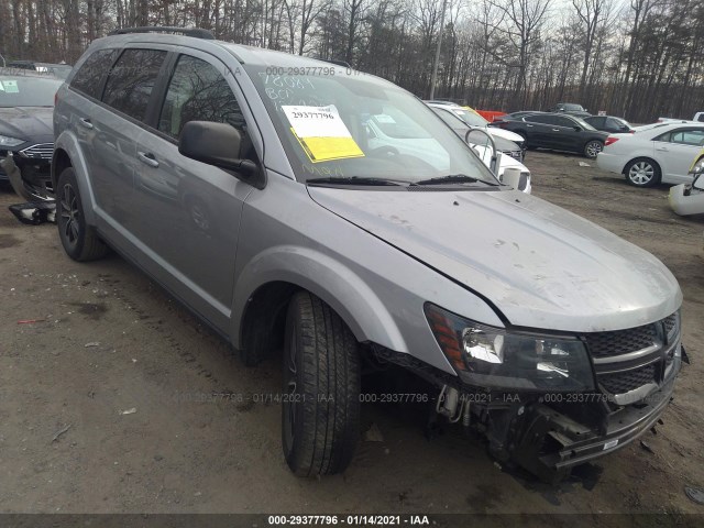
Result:
{"label": "brown dirt ground of the lot around the silver SUV", "polygon": [[684,494],[704,486],[704,219],[672,213],[667,187],[634,189],[580,161],[529,153],[534,194],[672,270],[692,359],[664,425],[644,437],[649,450],[636,442],[601,459],[596,483],[508,474],[479,442],[454,432],[429,442],[382,405],[365,406],[363,422],[383,441],[361,441],[344,475],[296,479],[278,405],[202,398],[278,392],[278,363],[243,367],[119,256],[70,261],[55,226],[15,221],[7,206],[19,200],[2,188],[0,512],[704,513]]}

